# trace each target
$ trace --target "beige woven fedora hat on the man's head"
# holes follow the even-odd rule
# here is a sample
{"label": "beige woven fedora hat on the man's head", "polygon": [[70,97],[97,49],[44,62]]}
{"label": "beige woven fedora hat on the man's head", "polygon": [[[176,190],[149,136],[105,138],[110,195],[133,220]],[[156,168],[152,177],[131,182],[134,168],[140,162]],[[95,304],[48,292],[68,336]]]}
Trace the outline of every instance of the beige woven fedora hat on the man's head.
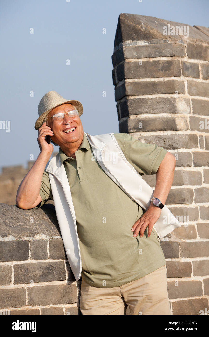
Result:
{"label": "beige woven fedora hat on the man's head", "polygon": [[83,105],[76,100],[67,100],[56,91],[48,91],[40,100],[38,105],[39,118],[35,123],[35,129],[38,130],[43,124],[43,120],[52,109],[64,103],[71,103],[79,112],[79,117],[83,114]]}

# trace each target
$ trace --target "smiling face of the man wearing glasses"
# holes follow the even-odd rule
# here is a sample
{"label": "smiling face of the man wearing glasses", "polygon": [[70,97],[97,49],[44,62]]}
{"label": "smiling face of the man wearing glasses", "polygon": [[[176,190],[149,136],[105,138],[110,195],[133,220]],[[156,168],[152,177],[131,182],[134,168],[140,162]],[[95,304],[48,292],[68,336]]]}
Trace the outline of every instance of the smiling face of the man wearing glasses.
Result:
{"label": "smiling face of the man wearing glasses", "polygon": [[[62,105],[57,106],[53,110],[51,110],[47,117],[48,117],[48,126],[51,127],[54,135],[51,136],[53,142],[55,142],[60,147],[62,144],[67,143],[74,143],[78,142],[80,139],[83,139],[83,125],[81,123],[81,119],[78,115],[69,117],[67,114],[64,115],[64,119],[61,120],[53,120],[50,119],[55,114],[59,113],[66,113],[68,111],[75,110],[70,103],[65,103]],[[75,128],[74,131],[64,132],[70,130],[71,128]]]}

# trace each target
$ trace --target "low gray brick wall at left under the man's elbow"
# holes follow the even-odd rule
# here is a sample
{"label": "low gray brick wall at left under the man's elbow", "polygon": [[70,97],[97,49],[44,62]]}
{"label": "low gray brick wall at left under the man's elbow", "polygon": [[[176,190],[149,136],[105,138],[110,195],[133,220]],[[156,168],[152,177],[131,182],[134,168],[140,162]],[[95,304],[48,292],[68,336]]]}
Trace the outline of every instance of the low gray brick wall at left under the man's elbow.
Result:
{"label": "low gray brick wall at left under the man's elbow", "polygon": [[0,314],[80,315],[54,205],[0,204]]}

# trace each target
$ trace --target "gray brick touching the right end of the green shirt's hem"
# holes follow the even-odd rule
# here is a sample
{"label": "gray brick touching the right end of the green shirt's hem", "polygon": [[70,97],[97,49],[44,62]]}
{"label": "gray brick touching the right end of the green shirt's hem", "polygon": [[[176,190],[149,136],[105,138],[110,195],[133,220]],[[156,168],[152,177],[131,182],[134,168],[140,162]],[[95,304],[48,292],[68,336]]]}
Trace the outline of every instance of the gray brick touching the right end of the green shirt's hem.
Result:
{"label": "gray brick touching the right end of the green shirt's hem", "polygon": [[191,277],[192,263],[180,261],[166,261],[167,277]]}

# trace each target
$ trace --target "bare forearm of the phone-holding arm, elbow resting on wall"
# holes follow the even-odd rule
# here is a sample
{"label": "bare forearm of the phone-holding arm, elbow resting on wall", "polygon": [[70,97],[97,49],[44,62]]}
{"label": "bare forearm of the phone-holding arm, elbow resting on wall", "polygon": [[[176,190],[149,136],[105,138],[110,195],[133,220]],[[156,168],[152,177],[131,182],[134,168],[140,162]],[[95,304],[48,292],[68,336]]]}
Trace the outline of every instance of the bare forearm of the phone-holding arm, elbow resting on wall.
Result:
{"label": "bare forearm of the phone-holding arm, elbow resting on wall", "polygon": [[18,207],[30,207],[36,202],[39,196],[44,169],[50,156],[51,154],[49,153],[40,152],[37,160],[20,183],[16,195]]}

